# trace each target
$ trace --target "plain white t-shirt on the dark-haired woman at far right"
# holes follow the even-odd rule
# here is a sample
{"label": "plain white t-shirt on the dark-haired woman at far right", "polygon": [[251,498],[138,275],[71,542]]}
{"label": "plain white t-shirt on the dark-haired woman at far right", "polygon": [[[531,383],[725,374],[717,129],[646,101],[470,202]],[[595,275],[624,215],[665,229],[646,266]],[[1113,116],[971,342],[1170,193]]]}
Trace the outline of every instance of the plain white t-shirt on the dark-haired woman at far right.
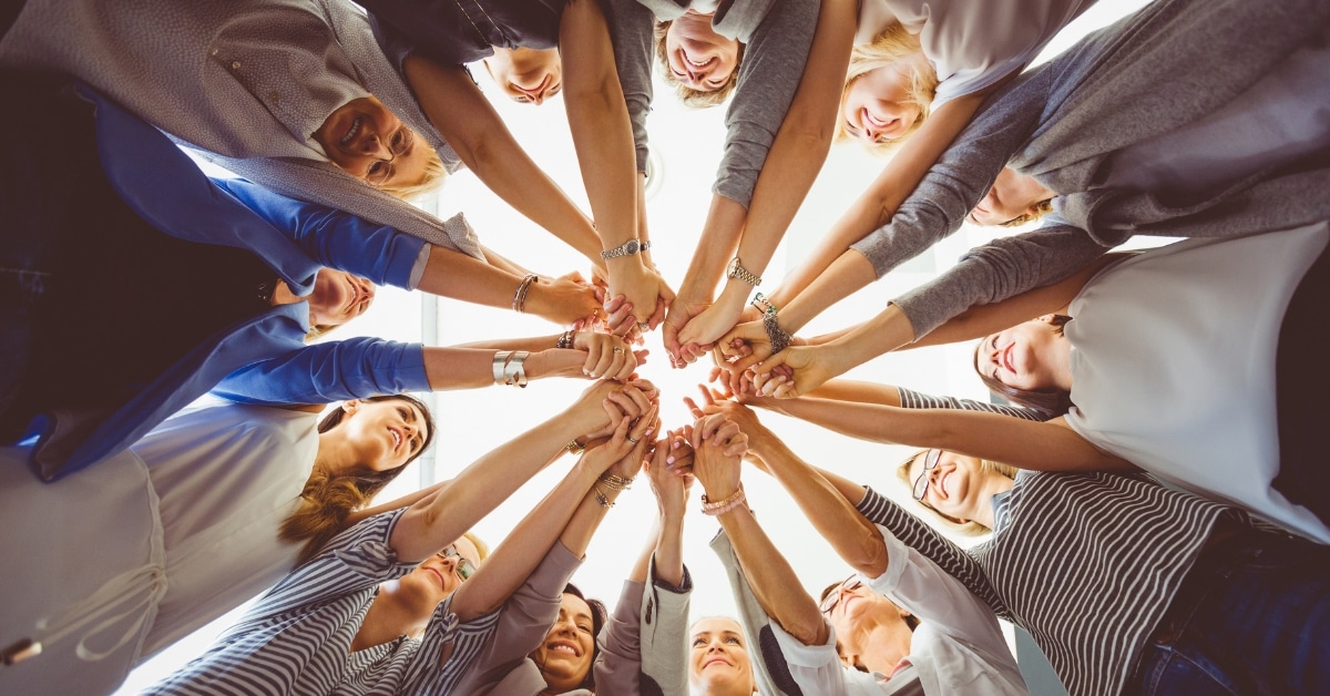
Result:
{"label": "plain white t-shirt on the dark-haired woman at far right", "polygon": [[1091,278],[1069,306],[1067,423],[1154,476],[1322,543],[1330,528],[1270,487],[1279,472],[1275,350],[1319,222],[1185,240]]}

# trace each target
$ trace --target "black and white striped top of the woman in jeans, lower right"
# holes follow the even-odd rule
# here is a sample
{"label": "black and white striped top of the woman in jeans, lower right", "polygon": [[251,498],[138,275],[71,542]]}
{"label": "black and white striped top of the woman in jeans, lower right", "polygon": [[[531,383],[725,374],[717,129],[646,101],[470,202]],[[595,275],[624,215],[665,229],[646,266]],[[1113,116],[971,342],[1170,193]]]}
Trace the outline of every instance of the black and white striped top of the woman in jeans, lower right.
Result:
{"label": "black and white striped top of the woman in jeans, lower right", "polygon": [[871,488],[858,507],[1029,631],[1073,696],[1123,691],[1216,522],[1248,519],[1103,472],[1021,471],[995,496],[992,536],[968,551]]}

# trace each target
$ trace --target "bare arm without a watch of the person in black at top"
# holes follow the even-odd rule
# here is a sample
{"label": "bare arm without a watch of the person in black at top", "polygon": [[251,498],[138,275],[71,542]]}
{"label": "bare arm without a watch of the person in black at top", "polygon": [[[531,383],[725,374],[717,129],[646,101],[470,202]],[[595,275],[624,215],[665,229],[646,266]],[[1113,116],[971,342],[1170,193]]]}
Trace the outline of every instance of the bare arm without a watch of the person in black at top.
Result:
{"label": "bare arm without a watch of the person in black at top", "polygon": [[462,67],[414,55],[402,69],[430,122],[489,190],[592,263],[602,263],[591,221],[517,145]]}

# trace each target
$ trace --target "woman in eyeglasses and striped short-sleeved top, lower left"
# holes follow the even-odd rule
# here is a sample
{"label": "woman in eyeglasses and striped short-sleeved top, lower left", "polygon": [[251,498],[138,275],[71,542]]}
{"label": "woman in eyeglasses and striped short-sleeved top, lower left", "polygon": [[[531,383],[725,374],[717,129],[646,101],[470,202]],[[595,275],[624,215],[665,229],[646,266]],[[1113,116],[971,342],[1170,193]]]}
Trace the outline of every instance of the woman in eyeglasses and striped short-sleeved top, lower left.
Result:
{"label": "woman in eyeglasses and striped short-sleeved top, lower left", "polygon": [[[410,507],[338,535],[203,656],[149,692],[262,685],[271,693],[452,693],[496,631],[529,624],[540,607],[557,609],[548,598],[568,582],[604,516],[598,496],[614,495],[597,482],[625,462],[641,464],[645,446],[633,442],[656,427],[654,407],[630,426],[604,398],[606,389],[616,387],[595,385],[573,409],[423,491]],[[638,390],[632,398],[644,397]],[[609,442],[585,452],[483,564],[458,542],[569,440],[608,433]],[[479,570],[471,574],[471,566]],[[523,608],[508,611],[513,606]]]}

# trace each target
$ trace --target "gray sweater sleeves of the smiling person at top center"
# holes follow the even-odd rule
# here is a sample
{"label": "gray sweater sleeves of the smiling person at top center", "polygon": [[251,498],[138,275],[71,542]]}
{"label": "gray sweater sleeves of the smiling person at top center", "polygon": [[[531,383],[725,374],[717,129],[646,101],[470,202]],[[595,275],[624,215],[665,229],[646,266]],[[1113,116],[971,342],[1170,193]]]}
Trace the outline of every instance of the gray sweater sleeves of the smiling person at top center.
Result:
{"label": "gray sweater sleeves of the smiling person at top center", "polygon": [[[618,81],[633,121],[637,170],[646,170],[656,19],[673,20],[688,0],[609,0]],[[725,113],[725,154],[713,192],[743,208],[803,77],[822,0],[724,0],[712,27],[745,44],[738,84]]]}

